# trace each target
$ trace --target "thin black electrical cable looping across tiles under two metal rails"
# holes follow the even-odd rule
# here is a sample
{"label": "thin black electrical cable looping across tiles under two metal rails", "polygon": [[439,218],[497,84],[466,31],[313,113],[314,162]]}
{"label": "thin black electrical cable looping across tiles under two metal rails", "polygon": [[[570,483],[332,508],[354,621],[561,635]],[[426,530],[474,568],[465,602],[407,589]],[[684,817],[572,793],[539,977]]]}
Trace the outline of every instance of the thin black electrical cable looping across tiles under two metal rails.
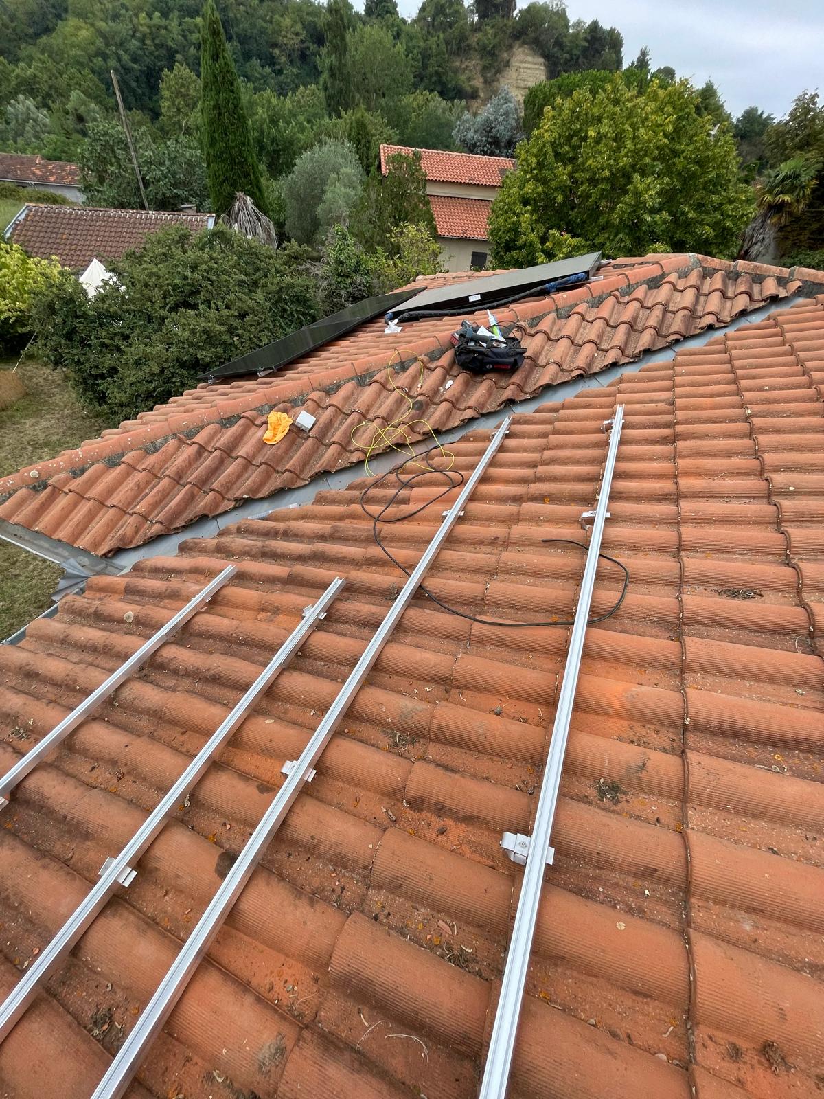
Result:
{"label": "thin black electrical cable looping across tiles under two metal rails", "polygon": [[[375,544],[378,546],[378,548],[380,550],[380,552],[382,554],[385,554],[391,560],[391,563],[397,568],[399,568],[405,576],[411,576],[412,574],[410,573],[410,570],[408,568],[405,568],[405,566],[401,565],[401,563],[398,560],[398,558],[394,557],[390,553],[390,551],[387,550],[387,547],[383,545],[383,542],[381,541],[381,537],[380,537],[380,533],[378,531],[378,524],[379,523],[402,523],[407,519],[412,519],[414,515],[420,514],[420,512],[422,512],[425,508],[428,508],[433,503],[437,503],[437,501],[442,497],[446,496],[447,492],[450,492],[454,488],[457,488],[458,485],[463,485],[464,484],[464,481],[466,480],[466,478],[464,477],[464,475],[459,470],[457,470],[457,469],[438,469],[437,466],[434,466],[432,464],[432,459],[430,457],[431,454],[432,454],[432,452],[433,451],[438,451],[438,453],[441,453],[441,449],[442,449],[441,445],[439,444],[435,444],[434,446],[431,446],[427,451],[424,451],[422,454],[416,454],[414,456],[411,455],[410,457],[404,458],[403,462],[399,462],[398,465],[392,466],[391,469],[387,469],[387,471],[385,474],[381,474],[380,477],[377,477],[374,481],[371,481],[369,485],[367,485],[366,488],[361,491],[360,499],[358,500],[358,503],[360,504],[360,510],[364,512],[365,515],[368,515],[368,518],[371,519],[371,521],[372,521],[372,537],[375,540]],[[419,469],[416,473],[409,474],[409,475],[404,476],[403,475],[403,467],[405,465],[408,465],[410,462],[413,462],[413,460],[416,462],[416,463],[420,463],[421,460],[425,462],[426,468],[425,469]],[[420,508],[415,508],[412,511],[408,511],[403,515],[396,515],[392,519],[386,519],[385,518],[387,511],[389,511],[389,509],[394,504],[396,500],[398,499],[398,497],[400,496],[400,493],[404,491],[404,489],[410,488],[412,485],[414,485],[414,482],[417,480],[419,477],[426,477],[426,476],[428,476],[432,473],[438,474],[438,475],[441,475],[441,476],[443,476],[443,477],[446,478],[447,485],[444,488],[443,492],[438,492],[438,495],[436,497],[434,497],[432,500],[427,500],[425,503],[422,503],[420,506]],[[379,512],[377,512],[377,514],[375,512],[372,512],[372,511],[369,511],[369,509],[366,506],[366,498],[367,498],[367,496],[369,495],[369,492],[371,492],[371,490],[374,488],[376,488],[378,485],[380,485],[380,482],[382,480],[385,480],[387,477],[391,476],[392,474],[394,474],[394,478],[398,481],[398,488],[394,490],[394,492],[392,493],[392,496],[389,499],[389,501],[386,504],[383,504],[383,507],[380,509]],[[565,543],[566,545],[578,546],[580,550],[589,550],[589,546],[586,543],[583,543],[583,542],[576,542],[574,539],[542,539],[541,541],[542,542],[561,542],[561,543]],[[610,557],[605,553],[599,553],[598,556],[600,558],[602,558],[603,560],[609,560],[611,565],[617,565],[617,567],[624,574],[624,582],[623,582],[623,586],[621,588],[621,595],[619,596],[615,604],[612,608],[610,608],[610,610],[606,611],[605,614],[599,614],[597,618],[588,619],[588,621],[587,621],[588,625],[594,625],[597,622],[603,622],[605,619],[611,618],[617,611],[617,609],[621,607],[621,604],[623,603],[624,597],[626,596],[626,589],[630,586],[630,569],[622,562],[616,560],[614,557]],[[433,596],[433,593],[423,584],[420,586],[420,588],[421,588],[421,591],[423,591],[423,593],[428,599],[431,599],[433,601],[433,603],[437,603],[438,607],[441,607],[443,610],[447,611],[449,614],[456,614],[458,618],[468,619],[470,622],[477,622],[477,623],[479,623],[479,625],[500,625],[500,626],[504,626],[504,628],[508,628],[508,629],[515,629],[515,630],[517,630],[517,629],[525,629],[526,626],[531,626],[531,625],[532,626],[534,626],[534,625],[572,625],[572,623],[575,621],[574,619],[559,619],[559,620],[554,621],[554,622],[494,622],[491,619],[478,618],[475,614],[467,614],[466,611],[459,611],[455,607],[449,607],[448,603],[445,603],[442,599],[438,599],[437,596]]]}

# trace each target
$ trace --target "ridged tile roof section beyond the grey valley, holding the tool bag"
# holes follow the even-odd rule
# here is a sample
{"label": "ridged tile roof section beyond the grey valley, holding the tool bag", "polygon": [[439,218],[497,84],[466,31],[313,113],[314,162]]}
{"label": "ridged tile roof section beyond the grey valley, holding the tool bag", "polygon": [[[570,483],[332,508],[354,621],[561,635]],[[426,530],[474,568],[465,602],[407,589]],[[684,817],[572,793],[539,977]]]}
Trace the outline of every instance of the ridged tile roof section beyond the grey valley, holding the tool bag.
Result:
{"label": "ridged tile roof section beyond the grey valley, holding the tool bag", "polygon": [[[513,373],[456,367],[449,334],[460,317],[409,323],[400,335],[372,321],[270,377],[189,389],[100,439],[0,478],[0,519],[111,554],[363,460],[369,433],[353,441],[353,429],[402,415],[408,404],[398,387],[412,396],[417,418],[444,431],[724,328],[788,295],[824,291],[822,273],[694,255],[620,259],[602,275],[497,311],[526,347]],[[486,322],[486,311],[476,319]],[[292,428],[276,446],[263,442],[270,411],[293,417],[301,409],[316,419],[307,434]]]}

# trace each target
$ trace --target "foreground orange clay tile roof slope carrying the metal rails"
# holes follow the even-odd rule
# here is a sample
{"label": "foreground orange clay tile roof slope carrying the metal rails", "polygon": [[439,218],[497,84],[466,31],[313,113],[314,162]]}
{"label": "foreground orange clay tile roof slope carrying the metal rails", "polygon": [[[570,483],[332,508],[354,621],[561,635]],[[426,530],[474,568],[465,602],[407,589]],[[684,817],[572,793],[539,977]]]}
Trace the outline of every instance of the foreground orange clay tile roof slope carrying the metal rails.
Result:
{"label": "foreground orange clay tile roof slope carrying the metal rails", "polygon": [[[428,587],[459,610],[567,618],[581,554],[544,540],[581,539],[602,423],[625,406],[603,548],[630,588],[587,634],[510,1095],[817,1094],[823,301],[515,417],[434,560]],[[457,468],[488,439],[452,444]],[[4,771],[208,577],[237,567],[3,811],[4,995],[307,602],[347,578],[16,1024],[0,1050],[10,1094],[97,1087],[397,595],[402,577],[357,506],[365,484],[93,578],[0,646],[2,709],[21,731],[0,744]],[[405,490],[399,507],[439,488]],[[443,507],[386,529],[408,566]],[[604,564],[594,614],[620,587]],[[566,629],[470,623],[419,593],[134,1095],[207,1099],[231,1080],[233,1095],[278,1099],[475,1099],[523,873],[501,833],[530,831],[567,642]]]}

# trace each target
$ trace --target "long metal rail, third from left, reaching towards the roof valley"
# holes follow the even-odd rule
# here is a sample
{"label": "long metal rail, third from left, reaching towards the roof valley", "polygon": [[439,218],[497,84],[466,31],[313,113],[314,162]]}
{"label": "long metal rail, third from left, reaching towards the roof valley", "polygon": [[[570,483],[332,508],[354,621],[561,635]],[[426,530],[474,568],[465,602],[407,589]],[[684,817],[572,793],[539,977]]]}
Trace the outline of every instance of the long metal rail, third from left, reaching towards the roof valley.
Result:
{"label": "long metal rail, third from left, reaching towards the roof valley", "polygon": [[198,925],[192,931],[189,939],[180,948],[180,953],[160,983],[159,988],[152,997],[140,1019],[134,1025],[129,1037],[125,1040],[114,1061],[96,1089],[92,1099],[120,1099],[129,1083],[132,1079],[137,1066],[143,1059],[149,1043],[157,1035],[166,1019],[183,992],[189,979],[204,957],[209,946],[218,934],[221,924],[229,914],[232,906],[240,897],[243,887],[252,876],[261,855],[266,851],[271,837],[285,820],[289,809],[297,799],[303,782],[308,780],[310,773],[314,769],[323,750],[332,739],[338,723],[349,708],[352,700],[357,695],[364,680],[369,675],[372,665],[380,655],[387,640],[394,630],[398,621],[409,606],[412,597],[417,590],[417,586],[426,575],[427,569],[435,559],[438,550],[446,541],[449,532],[455,525],[460,511],[472,493],[475,486],[483,475],[492,456],[501,445],[504,435],[509,431],[512,417],[508,417],[498,429],[487,447],[483,456],[476,466],[471,476],[460,491],[455,503],[449,509],[448,514],[437,529],[435,536],[423,553],[417,565],[412,570],[407,582],[403,585],[400,595],[389,608],[386,618],[378,626],[377,632],[364,650],[360,659],[349,673],[346,682],[337,693],[334,702],[326,712],[318,729],[309,740],[305,748],[290,769],[289,775],[280,787],[271,804],[260,820],[255,831],[252,833],[245,847],[237,856],[232,869],[223,879],[218,892],[212,898],[203,915],[198,921]]}

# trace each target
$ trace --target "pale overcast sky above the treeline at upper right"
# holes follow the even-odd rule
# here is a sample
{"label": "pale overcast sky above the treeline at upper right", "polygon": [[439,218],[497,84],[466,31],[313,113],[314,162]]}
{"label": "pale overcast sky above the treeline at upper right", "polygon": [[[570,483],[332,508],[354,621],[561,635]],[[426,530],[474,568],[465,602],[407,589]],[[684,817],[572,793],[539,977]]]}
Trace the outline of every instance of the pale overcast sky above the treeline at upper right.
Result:
{"label": "pale overcast sky above the treeline at upper right", "polygon": [[[399,0],[403,15],[419,7]],[[653,68],[712,78],[733,116],[756,104],[778,118],[804,88],[824,91],[824,0],[567,0],[567,11],[616,26],[624,64],[648,46]]]}

